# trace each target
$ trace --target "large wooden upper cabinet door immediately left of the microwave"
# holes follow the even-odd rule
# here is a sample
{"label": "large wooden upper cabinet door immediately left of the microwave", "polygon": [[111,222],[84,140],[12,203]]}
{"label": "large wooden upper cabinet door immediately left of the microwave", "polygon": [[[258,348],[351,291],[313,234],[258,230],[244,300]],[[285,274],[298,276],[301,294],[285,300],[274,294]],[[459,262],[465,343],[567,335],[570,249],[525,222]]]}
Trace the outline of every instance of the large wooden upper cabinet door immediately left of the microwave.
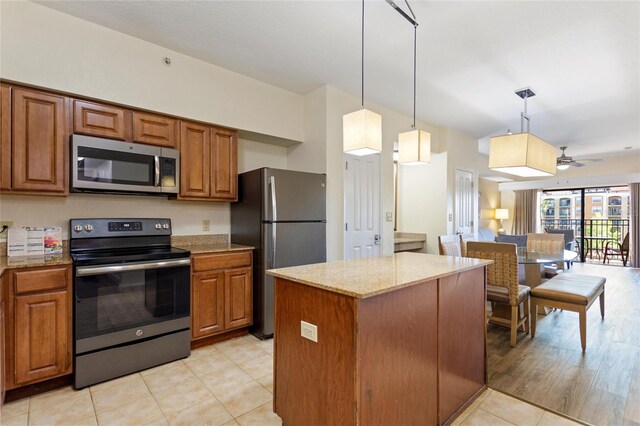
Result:
{"label": "large wooden upper cabinet door immediately left of the microwave", "polygon": [[13,90],[13,190],[68,192],[67,103],[64,96]]}

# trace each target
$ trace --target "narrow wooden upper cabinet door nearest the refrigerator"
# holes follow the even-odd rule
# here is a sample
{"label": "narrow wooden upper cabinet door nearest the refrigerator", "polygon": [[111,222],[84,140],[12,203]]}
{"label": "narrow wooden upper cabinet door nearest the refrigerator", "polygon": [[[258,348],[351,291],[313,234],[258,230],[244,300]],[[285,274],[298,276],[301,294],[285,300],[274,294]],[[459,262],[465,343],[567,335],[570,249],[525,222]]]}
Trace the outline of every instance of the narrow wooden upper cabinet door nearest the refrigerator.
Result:
{"label": "narrow wooden upper cabinet door nearest the refrigerator", "polygon": [[238,135],[211,130],[211,197],[238,198]]}

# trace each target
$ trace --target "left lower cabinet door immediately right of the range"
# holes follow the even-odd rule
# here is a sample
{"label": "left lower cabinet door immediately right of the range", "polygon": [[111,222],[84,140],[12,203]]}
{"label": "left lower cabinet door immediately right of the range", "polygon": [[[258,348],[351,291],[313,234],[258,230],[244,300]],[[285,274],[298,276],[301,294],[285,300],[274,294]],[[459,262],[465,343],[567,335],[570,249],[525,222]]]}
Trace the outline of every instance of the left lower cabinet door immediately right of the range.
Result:
{"label": "left lower cabinet door immediately right of the range", "polygon": [[197,339],[224,331],[224,273],[193,274],[191,289],[191,336]]}

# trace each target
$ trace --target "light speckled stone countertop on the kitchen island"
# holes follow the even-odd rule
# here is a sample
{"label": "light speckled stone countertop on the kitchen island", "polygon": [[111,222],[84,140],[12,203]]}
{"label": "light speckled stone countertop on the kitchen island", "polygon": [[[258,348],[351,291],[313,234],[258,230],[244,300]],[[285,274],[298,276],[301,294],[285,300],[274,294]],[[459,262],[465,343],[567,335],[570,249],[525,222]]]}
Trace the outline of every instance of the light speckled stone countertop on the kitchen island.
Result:
{"label": "light speckled stone countertop on the kitchen island", "polygon": [[403,252],[393,256],[271,269],[267,273],[364,299],[491,263],[466,257]]}

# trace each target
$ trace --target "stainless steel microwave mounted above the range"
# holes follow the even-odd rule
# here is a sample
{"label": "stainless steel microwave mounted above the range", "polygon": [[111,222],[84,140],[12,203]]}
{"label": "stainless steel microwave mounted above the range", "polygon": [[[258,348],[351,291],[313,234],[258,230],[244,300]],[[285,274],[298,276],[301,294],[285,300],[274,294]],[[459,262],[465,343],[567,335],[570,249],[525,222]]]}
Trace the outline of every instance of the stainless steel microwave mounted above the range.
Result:
{"label": "stainless steel microwave mounted above the range", "polygon": [[176,194],[180,153],[175,149],[71,136],[73,191]]}

